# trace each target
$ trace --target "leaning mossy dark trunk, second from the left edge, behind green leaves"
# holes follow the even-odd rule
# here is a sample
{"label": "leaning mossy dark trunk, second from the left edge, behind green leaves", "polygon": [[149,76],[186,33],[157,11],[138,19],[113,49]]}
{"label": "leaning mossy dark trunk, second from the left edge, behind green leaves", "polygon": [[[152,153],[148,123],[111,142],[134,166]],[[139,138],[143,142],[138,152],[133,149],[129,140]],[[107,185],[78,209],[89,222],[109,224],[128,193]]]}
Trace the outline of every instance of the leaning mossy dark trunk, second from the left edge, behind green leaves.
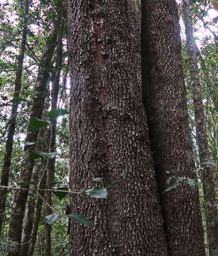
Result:
{"label": "leaning mossy dark trunk, second from the left edge, behind green leaves", "polygon": [[[60,14],[61,15],[61,14]],[[53,52],[57,44],[58,29],[60,25],[60,16],[55,20],[55,25],[51,30],[50,38],[48,39],[45,51],[40,61],[40,68],[38,71],[38,78],[35,87],[35,95],[33,100],[33,108],[31,117],[38,117],[40,119],[43,113],[46,85],[50,73],[51,60]],[[28,124],[28,132],[26,135],[26,142],[36,142],[38,137],[38,130],[31,131],[31,125]],[[34,161],[30,158],[30,154],[35,152],[36,144],[24,146],[23,149],[23,163],[21,165],[21,175],[19,182],[21,187],[29,188],[31,176],[33,173]],[[16,193],[15,206],[11,214],[9,224],[9,240],[11,241],[11,250],[8,256],[19,256],[21,253],[21,234],[23,225],[23,215],[25,213],[26,201],[28,198],[28,191],[18,191]]]}

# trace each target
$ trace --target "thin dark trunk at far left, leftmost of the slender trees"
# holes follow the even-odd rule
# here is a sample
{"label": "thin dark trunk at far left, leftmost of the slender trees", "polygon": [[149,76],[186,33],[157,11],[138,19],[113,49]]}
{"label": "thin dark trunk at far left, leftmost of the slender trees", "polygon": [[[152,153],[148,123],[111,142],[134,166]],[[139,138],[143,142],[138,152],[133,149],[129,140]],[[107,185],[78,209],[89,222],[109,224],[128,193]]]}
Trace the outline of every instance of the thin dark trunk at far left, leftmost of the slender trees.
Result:
{"label": "thin dark trunk at far left, leftmost of the slender trees", "polygon": [[[16,69],[16,79],[14,81],[14,92],[13,92],[13,99],[16,99],[20,95],[21,90],[21,78],[23,73],[23,59],[24,53],[26,49],[26,38],[28,34],[28,10],[29,10],[29,0],[24,1],[24,18],[23,18],[23,31],[22,31],[22,38],[21,38],[21,46],[19,48],[18,53],[18,63]],[[11,153],[13,148],[13,135],[16,128],[16,117],[18,104],[13,102],[11,108],[11,118],[9,124],[9,130],[6,139],[6,152],[4,154],[4,164],[1,170],[1,186],[9,186],[9,176],[10,176],[10,167],[11,167]],[[4,223],[4,215],[5,215],[5,207],[6,207],[6,197],[7,197],[7,190],[5,188],[0,188],[0,238],[1,238],[1,230],[2,225]]]}

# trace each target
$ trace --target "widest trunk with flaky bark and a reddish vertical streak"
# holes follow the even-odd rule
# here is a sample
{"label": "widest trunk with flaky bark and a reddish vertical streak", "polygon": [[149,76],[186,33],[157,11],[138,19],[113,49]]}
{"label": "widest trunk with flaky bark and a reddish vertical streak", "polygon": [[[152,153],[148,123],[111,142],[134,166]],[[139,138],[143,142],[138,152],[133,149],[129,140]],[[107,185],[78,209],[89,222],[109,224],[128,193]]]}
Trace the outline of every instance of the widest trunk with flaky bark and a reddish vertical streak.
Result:
{"label": "widest trunk with flaky bark and a reddish vertical streak", "polygon": [[[146,114],[135,3],[70,0],[70,187],[112,185],[108,199],[73,196],[70,255],[167,255]],[[100,186],[100,185],[99,185]]]}

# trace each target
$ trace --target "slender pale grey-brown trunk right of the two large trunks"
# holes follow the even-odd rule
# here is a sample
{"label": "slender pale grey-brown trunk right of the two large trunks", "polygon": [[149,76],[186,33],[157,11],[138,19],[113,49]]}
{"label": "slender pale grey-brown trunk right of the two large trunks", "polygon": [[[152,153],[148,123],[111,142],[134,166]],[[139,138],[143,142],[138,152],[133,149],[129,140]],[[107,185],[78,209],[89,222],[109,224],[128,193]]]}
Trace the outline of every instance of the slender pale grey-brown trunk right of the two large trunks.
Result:
{"label": "slender pale grey-brown trunk right of the two large trunks", "polygon": [[190,10],[190,0],[183,0],[183,13],[185,21],[185,35],[187,43],[187,53],[190,61],[190,79],[192,84],[192,94],[195,111],[195,125],[197,134],[197,146],[202,166],[202,184],[205,196],[205,215],[207,223],[207,240],[209,246],[209,256],[218,255],[218,217],[216,196],[214,188],[213,169],[204,164],[210,159],[207,144],[207,132],[205,124],[205,112],[202,102],[201,85],[199,71],[197,67],[197,45],[193,36],[192,13]]}

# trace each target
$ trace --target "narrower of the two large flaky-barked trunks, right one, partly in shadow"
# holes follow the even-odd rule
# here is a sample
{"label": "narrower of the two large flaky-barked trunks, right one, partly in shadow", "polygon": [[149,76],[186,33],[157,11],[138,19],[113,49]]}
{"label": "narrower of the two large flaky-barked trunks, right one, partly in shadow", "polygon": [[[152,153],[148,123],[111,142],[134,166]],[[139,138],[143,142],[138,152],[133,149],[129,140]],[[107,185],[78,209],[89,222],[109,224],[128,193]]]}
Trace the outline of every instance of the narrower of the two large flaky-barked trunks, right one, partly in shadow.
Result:
{"label": "narrower of the two large flaky-barked trunks, right one, partly in shadow", "polygon": [[[163,193],[170,176],[195,179],[174,0],[142,2],[144,104],[170,256],[205,255],[197,186]],[[148,62],[149,60],[149,62]]]}

